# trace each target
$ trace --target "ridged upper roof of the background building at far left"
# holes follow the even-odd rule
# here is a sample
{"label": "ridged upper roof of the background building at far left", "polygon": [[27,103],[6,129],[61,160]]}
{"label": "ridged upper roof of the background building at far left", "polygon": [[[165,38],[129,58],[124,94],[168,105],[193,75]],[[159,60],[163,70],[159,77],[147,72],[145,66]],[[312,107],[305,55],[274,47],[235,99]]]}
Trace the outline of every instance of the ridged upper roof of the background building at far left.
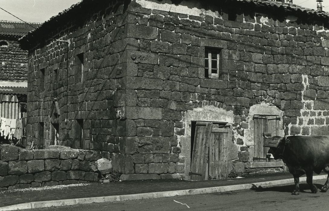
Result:
{"label": "ridged upper roof of the background building at far left", "polygon": [[[39,23],[29,24],[35,28],[41,25]],[[30,25],[24,22],[0,20],[0,35],[24,36],[27,32],[34,29]]]}

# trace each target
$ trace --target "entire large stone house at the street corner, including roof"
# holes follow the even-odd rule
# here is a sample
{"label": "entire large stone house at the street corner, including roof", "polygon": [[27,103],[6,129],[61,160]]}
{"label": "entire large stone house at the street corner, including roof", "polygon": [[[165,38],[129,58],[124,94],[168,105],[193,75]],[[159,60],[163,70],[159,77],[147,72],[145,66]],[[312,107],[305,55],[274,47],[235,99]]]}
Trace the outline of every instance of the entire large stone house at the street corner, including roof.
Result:
{"label": "entire large stone house at the street corner, including roof", "polygon": [[285,171],[262,134],[329,133],[329,14],[261,0],[84,0],[29,32],[30,140],[122,179]]}

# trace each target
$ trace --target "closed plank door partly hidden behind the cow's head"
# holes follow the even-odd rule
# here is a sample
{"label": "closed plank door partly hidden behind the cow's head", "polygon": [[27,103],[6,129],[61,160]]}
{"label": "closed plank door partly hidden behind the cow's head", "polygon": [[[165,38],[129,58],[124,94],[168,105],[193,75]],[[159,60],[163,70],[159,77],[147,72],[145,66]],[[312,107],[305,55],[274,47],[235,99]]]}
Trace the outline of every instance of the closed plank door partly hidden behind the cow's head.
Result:
{"label": "closed plank door partly hidden behind the cow's head", "polygon": [[254,139],[255,139],[255,151],[254,161],[264,162],[266,161],[266,153],[268,147],[264,147],[264,137],[266,136],[278,136],[279,135],[279,116],[262,116],[255,115],[254,119]]}

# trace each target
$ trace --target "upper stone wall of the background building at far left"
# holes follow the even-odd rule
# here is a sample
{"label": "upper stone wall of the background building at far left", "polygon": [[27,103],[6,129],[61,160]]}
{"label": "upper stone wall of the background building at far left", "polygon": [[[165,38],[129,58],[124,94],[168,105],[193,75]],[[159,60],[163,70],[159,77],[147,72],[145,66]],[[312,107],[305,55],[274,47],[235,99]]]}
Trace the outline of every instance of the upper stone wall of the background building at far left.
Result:
{"label": "upper stone wall of the background building at far left", "polygon": [[0,36],[0,41],[8,43],[0,46],[0,81],[27,80],[28,51],[20,48],[17,38]]}

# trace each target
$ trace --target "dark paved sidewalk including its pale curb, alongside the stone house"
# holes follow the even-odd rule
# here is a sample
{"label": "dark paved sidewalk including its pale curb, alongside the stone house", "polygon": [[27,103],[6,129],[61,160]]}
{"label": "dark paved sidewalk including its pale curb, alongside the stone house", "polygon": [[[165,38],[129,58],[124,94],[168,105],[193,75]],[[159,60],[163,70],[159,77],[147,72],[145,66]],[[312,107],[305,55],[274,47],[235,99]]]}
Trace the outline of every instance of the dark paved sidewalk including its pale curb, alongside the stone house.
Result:
{"label": "dark paved sidewalk including its pale curb, alongside the stone house", "polygon": [[[314,176],[314,179],[326,178],[326,175]],[[305,181],[305,178],[301,178],[301,181]],[[24,207],[46,207],[51,205],[63,206],[76,203],[92,203],[114,200],[158,198],[171,195],[225,192],[232,190],[250,189],[252,187],[255,188],[259,186],[268,187],[280,184],[292,185],[292,175],[272,174],[239,179],[205,181],[141,180],[6,190],[0,191],[0,198],[2,199],[0,201],[0,210],[10,210],[9,208],[22,209]],[[50,200],[60,201],[52,201],[51,203],[27,203]],[[5,208],[5,206],[10,207]]]}

